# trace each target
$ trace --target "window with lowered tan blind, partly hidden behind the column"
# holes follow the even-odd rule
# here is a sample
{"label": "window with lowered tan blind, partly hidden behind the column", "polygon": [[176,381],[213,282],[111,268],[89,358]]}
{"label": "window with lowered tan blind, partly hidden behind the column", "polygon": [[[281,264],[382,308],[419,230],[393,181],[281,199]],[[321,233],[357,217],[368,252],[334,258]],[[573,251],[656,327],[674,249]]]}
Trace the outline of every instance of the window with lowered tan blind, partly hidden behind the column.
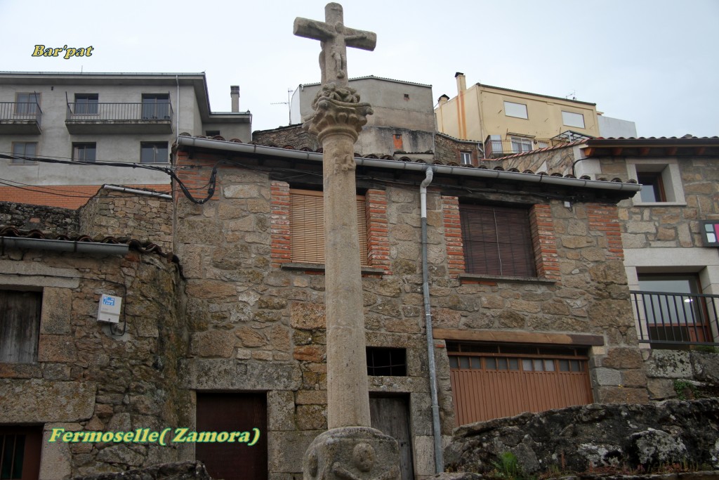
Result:
{"label": "window with lowered tan blind, partly hidden behind the column", "polygon": [[[365,197],[357,195],[359,260],[367,265]],[[321,191],[290,189],[292,261],[324,263],[324,200]]]}

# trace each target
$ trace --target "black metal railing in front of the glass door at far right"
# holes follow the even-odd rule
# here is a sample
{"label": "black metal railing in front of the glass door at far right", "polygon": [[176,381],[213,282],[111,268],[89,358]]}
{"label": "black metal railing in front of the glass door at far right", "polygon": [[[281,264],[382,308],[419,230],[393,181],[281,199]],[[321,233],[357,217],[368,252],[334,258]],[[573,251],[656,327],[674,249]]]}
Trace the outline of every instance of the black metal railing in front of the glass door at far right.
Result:
{"label": "black metal railing in front of the glass door at far right", "polygon": [[640,343],[719,345],[719,295],[631,291]]}

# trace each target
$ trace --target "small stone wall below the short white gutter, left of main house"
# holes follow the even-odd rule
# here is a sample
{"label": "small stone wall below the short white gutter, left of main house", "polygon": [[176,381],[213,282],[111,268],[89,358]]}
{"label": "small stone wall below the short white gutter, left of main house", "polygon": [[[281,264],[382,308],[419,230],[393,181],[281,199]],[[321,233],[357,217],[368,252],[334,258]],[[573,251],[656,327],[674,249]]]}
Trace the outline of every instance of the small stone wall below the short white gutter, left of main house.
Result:
{"label": "small stone wall below the short white gutter, left of main house", "polygon": [[165,251],[173,248],[171,199],[101,189],[78,212],[83,235],[132,238]]}

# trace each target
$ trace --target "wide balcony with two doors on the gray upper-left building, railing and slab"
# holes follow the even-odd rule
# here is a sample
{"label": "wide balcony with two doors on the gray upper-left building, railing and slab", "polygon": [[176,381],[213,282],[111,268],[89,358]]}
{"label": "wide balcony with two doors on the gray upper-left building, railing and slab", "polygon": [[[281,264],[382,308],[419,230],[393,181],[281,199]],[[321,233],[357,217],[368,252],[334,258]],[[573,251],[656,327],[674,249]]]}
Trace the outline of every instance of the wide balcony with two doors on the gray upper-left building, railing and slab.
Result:
{"label": "wide balcony with two doors on the gray upper-left building, railing and slab", "polygon": [[170,103],[68,103],[65,126],[72,134],[169,134],[173,132]]}

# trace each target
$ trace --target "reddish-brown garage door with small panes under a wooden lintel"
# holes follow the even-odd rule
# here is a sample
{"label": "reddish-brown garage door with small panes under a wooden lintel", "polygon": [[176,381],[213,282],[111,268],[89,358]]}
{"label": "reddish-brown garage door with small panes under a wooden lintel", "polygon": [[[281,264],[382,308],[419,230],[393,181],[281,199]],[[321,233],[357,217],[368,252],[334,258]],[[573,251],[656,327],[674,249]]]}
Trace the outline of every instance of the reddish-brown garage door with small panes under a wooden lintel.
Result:
{"label": "reddish-brown garage door with small panes under a wooden lintel", "polygon": [[592,402],[580,348],[447,342],[458,425]]}

